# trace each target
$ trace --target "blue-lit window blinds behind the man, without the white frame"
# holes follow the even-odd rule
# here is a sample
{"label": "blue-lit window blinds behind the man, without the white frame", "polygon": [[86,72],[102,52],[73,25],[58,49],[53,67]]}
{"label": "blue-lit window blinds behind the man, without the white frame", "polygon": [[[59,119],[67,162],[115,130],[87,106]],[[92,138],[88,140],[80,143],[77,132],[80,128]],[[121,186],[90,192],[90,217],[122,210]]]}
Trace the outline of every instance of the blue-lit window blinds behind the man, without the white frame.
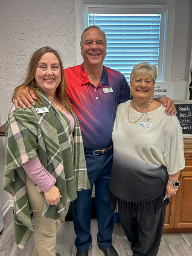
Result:
{"label": "blue-lit window blinds behind the man, without the white frame", "polygon": [[88,26],[98,25],[107,37],[104,65],[119,70],[127,81],[134,65],[143,61],[154,64],[158,73],[160,18],[161,14],[88,13]]}

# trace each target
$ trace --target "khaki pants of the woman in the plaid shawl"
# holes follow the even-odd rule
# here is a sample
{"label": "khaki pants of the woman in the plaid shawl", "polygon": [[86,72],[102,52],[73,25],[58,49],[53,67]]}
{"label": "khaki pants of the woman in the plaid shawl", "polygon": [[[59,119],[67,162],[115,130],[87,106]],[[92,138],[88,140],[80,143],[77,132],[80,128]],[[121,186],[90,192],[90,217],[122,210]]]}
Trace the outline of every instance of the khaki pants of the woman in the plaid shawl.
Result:
{"label": "khaki pants of the woman in the plaid shawl", "polygon": [[[45,198],[35,188],[35,183],[26,174],[26,187],[29,204],[35,219],[35,247],[32,256],[55,256],[56,236],[62,224],[42,216]],[[66,204],[67,215],[70,202]]]}

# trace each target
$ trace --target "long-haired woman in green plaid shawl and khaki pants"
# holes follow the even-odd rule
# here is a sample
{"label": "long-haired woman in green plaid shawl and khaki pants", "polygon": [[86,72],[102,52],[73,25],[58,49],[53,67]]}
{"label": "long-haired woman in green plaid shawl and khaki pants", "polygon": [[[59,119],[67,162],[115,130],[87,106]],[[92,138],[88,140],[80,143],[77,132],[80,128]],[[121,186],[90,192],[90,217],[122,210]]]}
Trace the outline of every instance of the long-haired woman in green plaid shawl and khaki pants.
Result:
{"label": "long-haired woman in green plaid shawl and khaki pants", "polygon": [[77,190],[90,188],[81,131],[57,51],[35,51],[22,85],[33,88],[37,102],[9,112],[4,189],[14,199],[17,245],[23,248],[34,232],[32,211],[32,256],[55,256],[56,235],[70,201],[77,198]]}

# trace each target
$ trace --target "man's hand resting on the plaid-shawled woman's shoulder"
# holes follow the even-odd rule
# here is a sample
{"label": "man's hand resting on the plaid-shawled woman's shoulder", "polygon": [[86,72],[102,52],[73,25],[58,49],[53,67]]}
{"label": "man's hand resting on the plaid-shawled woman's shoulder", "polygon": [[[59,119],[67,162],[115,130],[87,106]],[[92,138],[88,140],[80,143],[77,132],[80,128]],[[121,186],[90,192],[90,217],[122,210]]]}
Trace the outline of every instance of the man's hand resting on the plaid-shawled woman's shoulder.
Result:
{"label": "man's hand resting on the plaid-shawled woman's shoulder", "polygon": [[29,93],[29,87],[17,87],[15,91],[15,98],[14,98],[14,103],[15,103],[15,108],[19,108],[19,105],[21,108],[26,109],[26,106],[28,108],[31,108],[30,103],[34,106],[35,102],[34,99],[37,99],[35,95],[33,95],[33,90],[30,89]]}

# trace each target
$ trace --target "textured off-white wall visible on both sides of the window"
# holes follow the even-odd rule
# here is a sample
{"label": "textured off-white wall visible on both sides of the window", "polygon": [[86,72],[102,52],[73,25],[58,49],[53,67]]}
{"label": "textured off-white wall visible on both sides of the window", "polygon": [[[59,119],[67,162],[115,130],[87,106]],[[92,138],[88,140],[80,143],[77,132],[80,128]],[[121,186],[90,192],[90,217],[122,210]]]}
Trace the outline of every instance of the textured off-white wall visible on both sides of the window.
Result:
{"label": "textured off-white wall visible on both sides of the window", "polygon": [[[186,99],[191,10],[191,0],[176,0],[171,72],[172,81],[177,81],[175,99]],[[75,0],[0,0],[0,24],[0,125],[3,125],[12,106],[13,90],[21,83],[29,58],[36,49],[51,46],[61,52],[64,67],[76,64]],[[0,149],[0,157],[4,157],[2,143]],[[4,204],[7,195],[3,192],[4,158],[1,159],[0,193]]]}

